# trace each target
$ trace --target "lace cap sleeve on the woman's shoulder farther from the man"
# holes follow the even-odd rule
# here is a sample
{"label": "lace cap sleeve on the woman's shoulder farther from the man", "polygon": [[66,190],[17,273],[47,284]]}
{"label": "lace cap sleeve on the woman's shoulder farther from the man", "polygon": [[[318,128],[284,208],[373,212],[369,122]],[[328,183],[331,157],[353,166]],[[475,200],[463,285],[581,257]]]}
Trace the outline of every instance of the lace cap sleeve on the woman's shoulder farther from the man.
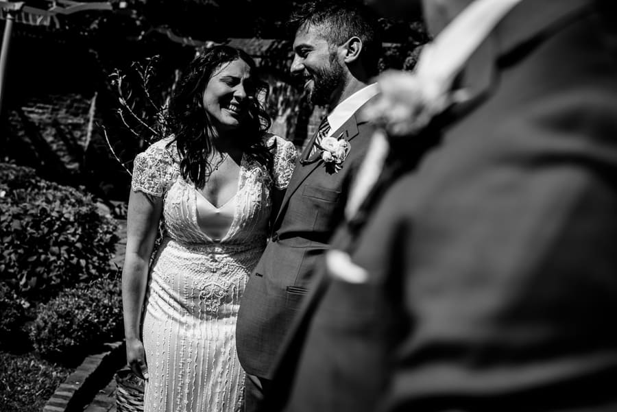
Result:
{"label": "lace cap sleeve on the woman's shoulder farther from the man", "polygon": [[133,163],[131,189],[149,195],[162,196],[171,185],[174,175],[173,150],[169,138],[162,139],[138,154]]}

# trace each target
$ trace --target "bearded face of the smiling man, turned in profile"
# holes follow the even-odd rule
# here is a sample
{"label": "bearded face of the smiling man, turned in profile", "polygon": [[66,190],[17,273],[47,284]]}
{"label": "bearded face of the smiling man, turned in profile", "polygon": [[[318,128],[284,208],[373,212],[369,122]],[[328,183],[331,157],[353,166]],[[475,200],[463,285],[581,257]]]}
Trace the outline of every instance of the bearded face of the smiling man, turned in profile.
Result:
{"label": "bearded face of the smiling man, turned in profile", "polygon": [[291,74],[300,77],[311,103],[330,104],[345,84],[345,69],[339,62],[338,47],[322,36],[323,29],[302,25],[293,40]]}

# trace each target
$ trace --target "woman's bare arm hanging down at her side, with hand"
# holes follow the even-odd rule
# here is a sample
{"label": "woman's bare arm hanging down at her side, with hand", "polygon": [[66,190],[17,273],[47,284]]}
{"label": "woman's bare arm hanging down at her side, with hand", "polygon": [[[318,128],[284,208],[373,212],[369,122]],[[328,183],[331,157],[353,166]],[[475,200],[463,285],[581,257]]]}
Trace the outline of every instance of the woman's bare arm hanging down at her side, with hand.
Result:
{"label": "woman's bare arm hanging down at her side, with hand", "polygon": [[147,365],[140,323],[148,278],[150,255],[154,248],[162,197],[131,191],[128,204],[126,256],[122,271],[122,306],[126,357],[133,372],[147,379]]}

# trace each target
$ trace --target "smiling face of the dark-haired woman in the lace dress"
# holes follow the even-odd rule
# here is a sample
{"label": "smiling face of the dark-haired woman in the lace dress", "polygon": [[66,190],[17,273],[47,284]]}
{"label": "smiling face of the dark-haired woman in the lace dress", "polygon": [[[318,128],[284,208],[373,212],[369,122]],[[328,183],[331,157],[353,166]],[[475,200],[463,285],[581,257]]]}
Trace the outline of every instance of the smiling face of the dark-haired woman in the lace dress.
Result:
{"label": "smiling face of the dark-haired woman in the lace dress", "polygon": [[213,126],[219,132],[239,128],[254,94],[251,69],[244,60],[221,64],[208,80],[203,97]]}

